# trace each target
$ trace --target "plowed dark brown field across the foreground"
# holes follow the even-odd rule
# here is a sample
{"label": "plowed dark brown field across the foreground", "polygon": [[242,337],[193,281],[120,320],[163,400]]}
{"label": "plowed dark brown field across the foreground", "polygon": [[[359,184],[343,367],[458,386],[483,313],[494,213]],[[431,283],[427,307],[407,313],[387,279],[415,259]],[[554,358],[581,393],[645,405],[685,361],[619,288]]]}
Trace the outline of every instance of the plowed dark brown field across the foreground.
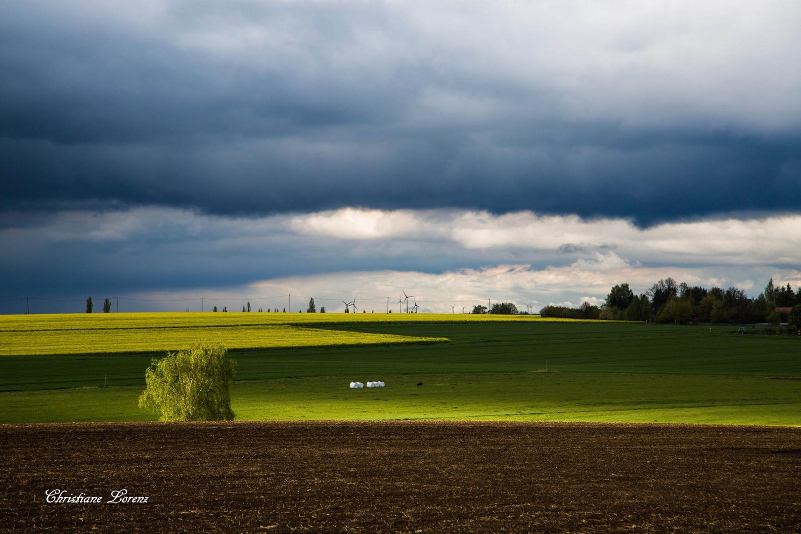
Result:
{"label": "plowed dark brown field across the foreground", "polygon": [[[0,445],[11,532],[801,530],[799,428],[26,424]],[[147,504],[107,502],[123,488]]]}

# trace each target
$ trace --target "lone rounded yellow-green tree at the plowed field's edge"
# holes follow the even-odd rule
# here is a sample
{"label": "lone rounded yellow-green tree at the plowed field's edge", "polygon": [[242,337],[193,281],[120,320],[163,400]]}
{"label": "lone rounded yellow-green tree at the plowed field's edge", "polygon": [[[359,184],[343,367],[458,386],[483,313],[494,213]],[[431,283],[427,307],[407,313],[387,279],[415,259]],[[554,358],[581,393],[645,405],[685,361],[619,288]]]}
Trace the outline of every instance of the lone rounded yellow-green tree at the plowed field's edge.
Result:
{"label": "lone rounded yellow-green tree at the plowed field's edge", "polygon": [[236,363],[226,355],[222,343],[200,342],[151,360],[139,407],[162,421],[233,420],[230,389]]}

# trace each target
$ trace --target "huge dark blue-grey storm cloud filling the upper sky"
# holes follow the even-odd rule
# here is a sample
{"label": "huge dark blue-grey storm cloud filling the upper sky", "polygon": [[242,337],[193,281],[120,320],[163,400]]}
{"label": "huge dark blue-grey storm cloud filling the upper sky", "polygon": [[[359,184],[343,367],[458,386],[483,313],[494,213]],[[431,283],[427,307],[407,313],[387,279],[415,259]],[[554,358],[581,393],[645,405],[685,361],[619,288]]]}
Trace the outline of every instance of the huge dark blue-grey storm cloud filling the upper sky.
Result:
{"label": "huge dark blue-grey storm cloud filling the upper sky", "polygon": [[467,207],[646,224],[799,211],[798,77],[762,57],[783,54],[735,47],[709,60],[719,78],[695,58],[673,66],[686,51],[670,67],[616,67],[692,27],[609,37],[558,8],[466,6],[6,3],[0,206]]}

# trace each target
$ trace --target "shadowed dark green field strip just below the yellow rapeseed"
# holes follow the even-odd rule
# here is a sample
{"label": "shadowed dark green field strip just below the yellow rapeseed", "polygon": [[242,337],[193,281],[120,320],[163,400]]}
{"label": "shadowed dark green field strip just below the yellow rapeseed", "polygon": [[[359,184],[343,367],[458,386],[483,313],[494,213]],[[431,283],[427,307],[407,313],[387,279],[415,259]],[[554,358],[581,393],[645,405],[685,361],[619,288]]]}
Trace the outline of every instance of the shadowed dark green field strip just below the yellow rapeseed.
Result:
{"label": "shadowed dark green field strip just below the yellow rapeseed", "polygon": [[[331,327],[332,328],[332,327]],[[342,325],[351,331],[451,343],[232,350],[238,379],[529,372],[801,376],[799,341],[726,328],[627,323],[412,323]],[[728,330],[731,330],[729,328]],[[168,331],[168,330],[165,330]],[[347,332],[347,331],[346,331]],[[163,355],[163,352],[160,353]],[[155,354],[159,355],[159,354]],[[0,391],[144,384],[153,355],[7,355]]]}

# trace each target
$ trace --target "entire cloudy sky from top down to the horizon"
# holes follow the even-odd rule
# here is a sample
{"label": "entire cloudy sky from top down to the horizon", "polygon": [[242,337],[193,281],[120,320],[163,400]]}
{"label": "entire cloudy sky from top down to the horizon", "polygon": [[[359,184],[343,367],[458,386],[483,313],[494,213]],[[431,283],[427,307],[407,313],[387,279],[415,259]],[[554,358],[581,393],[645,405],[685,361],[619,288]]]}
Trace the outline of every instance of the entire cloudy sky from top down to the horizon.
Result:
{"label": "entire cloudy sky from top down to the horizon", "polygon": [[795,0],[2,2],[0,312],[795,287],[799,27]]}

